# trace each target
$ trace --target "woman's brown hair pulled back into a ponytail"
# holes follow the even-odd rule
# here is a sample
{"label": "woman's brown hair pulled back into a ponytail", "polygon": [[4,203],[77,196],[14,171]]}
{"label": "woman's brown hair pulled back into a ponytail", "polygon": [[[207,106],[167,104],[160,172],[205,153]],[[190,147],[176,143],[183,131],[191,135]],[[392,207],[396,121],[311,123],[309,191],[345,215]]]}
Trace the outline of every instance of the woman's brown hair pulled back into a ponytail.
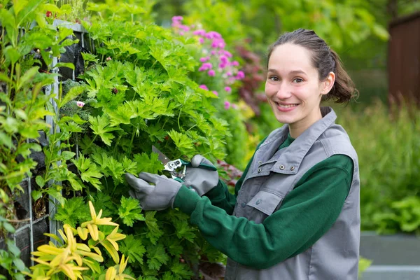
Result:
{"label": "woman's brown hair pulled back into a ponytail", "polygon": [[308,29],[297,29],[293,32],[288,32],[280,36],[268,50],[267,64],[269,57],[271,57],[273,50],[285,43],[293,43],[300,45],[312,53],[312,64],[318,69],[319,80],[325,80],[328,73],[335,73],[335,83],[330,92],[323,96],[323,100],[332,99],[336,103],[347,103],[351,98],[358,97],[358,90],[356,89],[353,80],[349,74],[344,70],[341,59],[334,50],[316,35],[315,31]]}

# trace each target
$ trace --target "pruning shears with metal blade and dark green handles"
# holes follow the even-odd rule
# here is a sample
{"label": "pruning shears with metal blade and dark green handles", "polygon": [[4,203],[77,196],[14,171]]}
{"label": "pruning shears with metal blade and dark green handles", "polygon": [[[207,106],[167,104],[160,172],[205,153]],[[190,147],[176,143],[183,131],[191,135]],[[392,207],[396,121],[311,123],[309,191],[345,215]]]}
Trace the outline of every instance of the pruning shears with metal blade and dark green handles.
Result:
{"label": "pruning shears with metal blade and dark green handles", "polygon": [[[158,148],[152,146],[153,153],[158,154],[158,159],[162,162],[163,166],[165,167],[165,171],[168,171],[172,179],[183,183],[183,179],[186,177],[187,167],[193,167],[191,162],[186,162],[185,160],[181,160],[181,158],[176,160],[169,160],[169,158],[164,155]],[[210,169],[210,170],[217,170],[216,167],[200,164],[200,168],[203,169]]]}

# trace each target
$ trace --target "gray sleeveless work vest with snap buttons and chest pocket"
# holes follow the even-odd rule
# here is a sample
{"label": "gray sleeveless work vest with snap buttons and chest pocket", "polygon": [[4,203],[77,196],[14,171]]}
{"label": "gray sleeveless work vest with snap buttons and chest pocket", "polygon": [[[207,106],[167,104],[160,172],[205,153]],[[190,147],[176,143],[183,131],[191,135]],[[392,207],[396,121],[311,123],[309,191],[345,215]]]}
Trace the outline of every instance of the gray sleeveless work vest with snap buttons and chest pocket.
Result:
{"label": "gray sleeveless work vest with snap buttons and chest pocket", "polygon": [[[274,130],[255,152],[253,162],[237,196],[233,214],[255,223],[281,207],[297,181],[318,162],[331,155],[353,159],[353,181],[337,221],[303,253],[267,269],[253,269],[228,258],[225,279],[250,280],[355,280],[358,278],[360,242],[359,170],[356,151],[335,112],[321,109],[323,118],[297,137],[290,146],[277,151],[288,137],[288,125]],[[299,223],[299,221],[296,221]],[[281,235],[281,232],[279,232]]]}

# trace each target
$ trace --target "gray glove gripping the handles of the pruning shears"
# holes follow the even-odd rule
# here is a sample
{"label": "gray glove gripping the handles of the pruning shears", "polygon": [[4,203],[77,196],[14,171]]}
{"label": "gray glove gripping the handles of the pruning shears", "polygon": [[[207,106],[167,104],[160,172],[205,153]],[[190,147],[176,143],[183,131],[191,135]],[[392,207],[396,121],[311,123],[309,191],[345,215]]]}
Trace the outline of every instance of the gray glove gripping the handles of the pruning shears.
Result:
{"label": "gray glove gripping the handles of the pruning shears", "polygon": [[216,167],[202,155],[191,159],[191,167],[187,167],[184,185],[193,188],[200,197],[218,184]]}

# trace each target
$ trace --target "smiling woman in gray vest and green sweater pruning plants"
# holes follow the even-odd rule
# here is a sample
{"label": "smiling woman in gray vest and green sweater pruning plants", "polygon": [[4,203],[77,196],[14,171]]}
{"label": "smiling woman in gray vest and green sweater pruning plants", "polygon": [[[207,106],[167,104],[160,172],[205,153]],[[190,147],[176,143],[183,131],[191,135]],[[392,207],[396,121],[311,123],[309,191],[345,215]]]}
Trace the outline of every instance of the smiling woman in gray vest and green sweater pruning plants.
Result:
{"label": "smiling woman in gray vest and green sweater pruning plants", "polygon": [[200,168],[211,165],[201,155],[184,185],[127,174],[131,194],[144,209],[189,214],[228,255],[225,279],[357,279],[358,159],[335,112],[320,107],[322,99],[349,102],[356,92],[337,54],[314,31],[283,34],[269,48],[265,94],[285,125],[258,145],[235,195],[217,172]]}

